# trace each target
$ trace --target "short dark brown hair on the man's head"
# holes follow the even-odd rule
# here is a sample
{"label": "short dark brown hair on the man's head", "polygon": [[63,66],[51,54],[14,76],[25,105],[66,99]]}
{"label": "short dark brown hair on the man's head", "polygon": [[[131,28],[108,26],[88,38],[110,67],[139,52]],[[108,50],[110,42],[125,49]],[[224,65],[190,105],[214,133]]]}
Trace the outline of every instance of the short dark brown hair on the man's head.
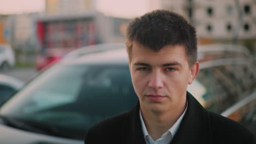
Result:
{"label": "short dark brown hair on the man's head", "polygon": [[195,28],[177,13],[154,10],[136,17],[126,31],[126,50],[131,60],[132,43],[158,52],[166,45],[182,45],[190,65],[197,61],[197,39]]}

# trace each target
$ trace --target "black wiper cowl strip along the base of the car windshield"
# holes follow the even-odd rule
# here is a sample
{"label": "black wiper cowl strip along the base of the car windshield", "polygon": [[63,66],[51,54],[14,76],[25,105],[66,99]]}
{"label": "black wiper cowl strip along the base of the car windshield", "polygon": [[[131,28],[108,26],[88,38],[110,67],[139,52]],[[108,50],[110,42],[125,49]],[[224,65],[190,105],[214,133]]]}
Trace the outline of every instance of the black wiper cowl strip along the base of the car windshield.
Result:
{"label": "black wiper cowl strip along the base of the car windshield", "polygon": [[78,139],[79,136],[63,133],[63,130],[55,127],[54,125],[39,123],[34,121],[27,121],[24,119],[17,119],[12,117],[0,116],[4,123],[9,127],[14,127],[26,131],[32,131],[40,134],[46,134],[51,136],[66,137],[70,139]]}

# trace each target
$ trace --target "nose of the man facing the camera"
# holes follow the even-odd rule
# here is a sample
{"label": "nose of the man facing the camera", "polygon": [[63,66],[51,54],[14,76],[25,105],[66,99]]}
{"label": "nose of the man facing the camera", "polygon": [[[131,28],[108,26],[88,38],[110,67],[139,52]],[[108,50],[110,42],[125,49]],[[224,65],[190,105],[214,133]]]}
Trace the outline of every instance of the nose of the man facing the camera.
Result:
{"label": "nose of the man facing the camera", "polygon": [[162,74],[160,71],[155,70],[152,72],[149,78],[148,87],[155,89],[164,87],[164,81],[162,79]]}

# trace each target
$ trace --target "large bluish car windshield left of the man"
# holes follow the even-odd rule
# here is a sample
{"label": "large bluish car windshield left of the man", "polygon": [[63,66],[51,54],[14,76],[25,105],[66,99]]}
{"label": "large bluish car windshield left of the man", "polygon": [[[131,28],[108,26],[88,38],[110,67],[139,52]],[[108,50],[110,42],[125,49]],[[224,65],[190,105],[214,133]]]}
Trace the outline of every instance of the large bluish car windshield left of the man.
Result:
{"label": "large bluish car windshield left of the man", "polygon": [[128,66],[55,65],[5,103],[1,116],[54,125],[84,139],[93,124],[136,103]]}

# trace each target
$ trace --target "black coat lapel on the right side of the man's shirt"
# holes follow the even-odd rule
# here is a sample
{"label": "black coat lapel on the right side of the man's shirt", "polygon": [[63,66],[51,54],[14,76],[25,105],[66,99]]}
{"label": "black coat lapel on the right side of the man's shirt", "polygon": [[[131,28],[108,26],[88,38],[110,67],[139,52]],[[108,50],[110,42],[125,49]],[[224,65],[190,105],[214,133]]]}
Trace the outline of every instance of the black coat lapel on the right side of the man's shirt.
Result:
{"label": "black coat lapel on the right side of the man's shirt", "polygon": [[171,144],[212,143],[208,112],[187,92],[188,109]]}

